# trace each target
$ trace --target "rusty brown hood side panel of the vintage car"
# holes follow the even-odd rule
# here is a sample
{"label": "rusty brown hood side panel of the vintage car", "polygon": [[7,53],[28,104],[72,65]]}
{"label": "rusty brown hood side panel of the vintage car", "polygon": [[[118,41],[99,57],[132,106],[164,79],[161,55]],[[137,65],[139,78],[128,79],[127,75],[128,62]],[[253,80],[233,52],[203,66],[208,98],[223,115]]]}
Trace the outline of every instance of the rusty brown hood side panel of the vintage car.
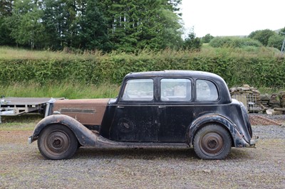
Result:
{"label": "rusty brown hood side panel of the vintage car", "polygon": [[53,104],[53,112],[68,115],[83,125],[101,125],[110,99],[66,99]]}

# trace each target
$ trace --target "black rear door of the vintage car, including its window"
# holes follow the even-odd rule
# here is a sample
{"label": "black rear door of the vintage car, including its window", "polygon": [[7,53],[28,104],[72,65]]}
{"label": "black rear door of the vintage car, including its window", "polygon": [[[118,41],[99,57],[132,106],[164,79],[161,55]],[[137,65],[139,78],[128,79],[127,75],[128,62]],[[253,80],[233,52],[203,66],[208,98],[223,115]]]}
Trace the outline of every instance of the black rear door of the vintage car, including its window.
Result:
{"label": "black rear door of the vintage car, including its window", "polygon": [[158,117],[160,142],[184,142],[193,119],[192,79],[159,78]]}

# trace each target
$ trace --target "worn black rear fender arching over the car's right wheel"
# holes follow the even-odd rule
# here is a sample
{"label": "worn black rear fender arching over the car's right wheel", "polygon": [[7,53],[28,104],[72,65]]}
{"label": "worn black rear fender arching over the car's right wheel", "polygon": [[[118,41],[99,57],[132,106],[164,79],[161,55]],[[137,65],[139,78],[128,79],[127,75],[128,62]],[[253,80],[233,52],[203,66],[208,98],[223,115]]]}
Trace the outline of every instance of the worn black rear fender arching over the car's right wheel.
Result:
{"label": "worn black rear fender arching over the car's right wheel", "polygon": [[192,122],[188,131],[187,131],[187,141],[190,145],[193,144],[194,136],[202,126],[207,124],[219,124],[224,126],[229,134],[232,136],[232,141],[234,142],[234,147],[246,147],[249,146],[247,141],[244,140],[244,136],[241,132],[237,129],[237,126],[233,124],[229,119],[223,117],[219,114],[205,114],[202,117],[197,118],[195,121]]}

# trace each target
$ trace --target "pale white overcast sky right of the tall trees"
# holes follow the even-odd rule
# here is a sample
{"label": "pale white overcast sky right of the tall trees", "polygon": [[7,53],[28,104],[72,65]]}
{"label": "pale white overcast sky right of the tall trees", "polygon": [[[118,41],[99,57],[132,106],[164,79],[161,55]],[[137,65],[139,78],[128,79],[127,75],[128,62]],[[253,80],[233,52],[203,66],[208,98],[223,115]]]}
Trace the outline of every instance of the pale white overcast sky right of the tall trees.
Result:
{"label": "pale white overcast sky right of the tall trees", "polygon": [[285,0],[182,0],[186,33],[197,37],[248,36],[285,27]]}

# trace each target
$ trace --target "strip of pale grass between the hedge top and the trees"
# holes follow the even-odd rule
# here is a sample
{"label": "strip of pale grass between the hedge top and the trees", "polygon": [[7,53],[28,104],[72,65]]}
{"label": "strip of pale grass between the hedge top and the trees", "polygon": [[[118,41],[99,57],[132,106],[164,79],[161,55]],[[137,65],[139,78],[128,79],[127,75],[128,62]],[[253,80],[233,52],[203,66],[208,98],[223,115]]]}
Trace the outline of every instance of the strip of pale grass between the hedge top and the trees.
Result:
{"label": "strip of pale grass between the hedge top and the trees", "polygon": [[160,52],[153,52],[150,50],[139,50],[135,53],[122,53],[113,51],[108,54],[103,54],[100,51],[83,51],[81,53],[72,53],[63,51],[51,51],[51,50],[25,50],[21,48],[9,48],[0,47],[0,59],[90,59],[90,58],[104,58],[104,57],[115,57],[117,55],[131,55],[131,56],[167,56],[167,55],[230,55],[234,57],[274,57],[281,56],[281,53],[276,48],[266,47],[253,47],[247,46],[244,48],[212,48],[208,43],[202,45],[201,51],[191,52],[188,50],[161,50]]}

